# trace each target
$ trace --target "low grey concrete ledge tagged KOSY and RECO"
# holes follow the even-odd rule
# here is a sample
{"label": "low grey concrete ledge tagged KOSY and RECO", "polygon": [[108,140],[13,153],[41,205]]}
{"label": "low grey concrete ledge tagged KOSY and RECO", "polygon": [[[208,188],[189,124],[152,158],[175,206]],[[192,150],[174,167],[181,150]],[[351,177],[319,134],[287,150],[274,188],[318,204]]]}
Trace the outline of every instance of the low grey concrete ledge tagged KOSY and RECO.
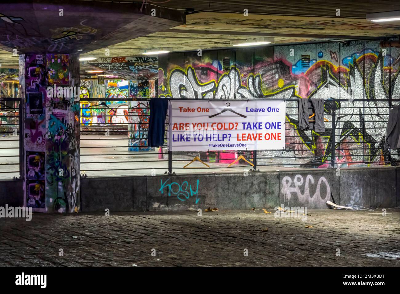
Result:
{"label": "low grey concrete ledge tagged KOSY and RECO", "polygon": [[[299,169],[288,171],[81,179],[82,212],[220,210],[337,204],[390,208],[400,204],[400,168]],[[3,182],[3,184],[1,184]],[[10,193],[22,181],[0,181]],[[18,186],[19,185],[19,186]],[[18,187],[17,187],[18,186]],[[3,188],[4,190],[5,188]],[[0,190],[1,191],[1,190]],[[23,199],[20,199],[23,200]],[[7,200],[10,201],[10,200]]]}

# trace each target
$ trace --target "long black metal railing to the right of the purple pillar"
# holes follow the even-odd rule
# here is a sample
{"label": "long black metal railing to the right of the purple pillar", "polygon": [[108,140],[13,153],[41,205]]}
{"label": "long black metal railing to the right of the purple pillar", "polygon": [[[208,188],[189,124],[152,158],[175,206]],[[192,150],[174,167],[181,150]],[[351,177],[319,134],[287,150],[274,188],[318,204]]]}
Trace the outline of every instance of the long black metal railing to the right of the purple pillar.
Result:
{"label": "long black metal railing to the right of the purple pillar", "polygon": [[[120,103],[116,103],[118,101]],[[150,174],[156,173],[156,170],[163,170],[165,173],[172,174],[174,170],[204,172],[204,170],[232,168],[257,170],[260,167],[274,166],[336,168],[398,164],[398,159],[392,158],[392,154],[383,149],[383,140],[390,108],[400,100],[326,99],[324,109],[325,118],[328,121],[325,122],[325,132],[318,134],[314,131],[298,129],[298,99],[289,98],[285,100],[284,150],[198,150],[193,152],[169,151],[166,136],[164,146],[161,146],[162,149],[158,152],[146,144],[148,101],[148,99],[135,98],[91,98],[81,101],[81,105],[90,103],[91,109],[97,108],[96,113],[90,113],[90,111],[88,113],[88,107],[81,107],[81,119],[100,118],[102,120],[101,122],[81,122],[82,173],[125,175]],[[106,106],[100,105],[102,102]],[[378,108],[368,105],[381,102],[382,105]],[[118,114],[117,109],[123,107],[126,112],[119,110]],[[371,112],[376,109],[378,113]],[[99,111],[102,111],[104,115],[99,115]],[[362,111],[361,116],[360,111]],[[106,118],[108,121],[105,121]],[[168,116],[166,128],[168,128]],[[89,134],[92,137],[86,138]],[[105,144],[95,144],[94,141],[105,142]],[[90,144],[84,142],[90,142]],[[127,144],[116,144],[116,142],[127,142]],[[135,142],[138,144],[135,145]],[[396,153],[396,150],[392,153]],[[228,164],[236,160],[239,155],[244,155],[254,166],[241,160],[228,168]],[[210,165],[210,168],[202,168],[200,165],[194,165],[190,169],[184,168],[184,165],[189,163],[194,156],[199,156],[202,161]],[[88,158],[91,159],[88,160]],[[106,160],[101,160],[102,158]]]}

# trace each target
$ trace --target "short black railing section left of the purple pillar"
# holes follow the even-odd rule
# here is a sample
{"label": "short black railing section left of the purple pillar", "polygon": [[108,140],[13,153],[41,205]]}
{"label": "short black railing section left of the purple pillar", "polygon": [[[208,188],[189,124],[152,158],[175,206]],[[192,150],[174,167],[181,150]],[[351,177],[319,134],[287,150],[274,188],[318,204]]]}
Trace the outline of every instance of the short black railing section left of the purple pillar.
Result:
{"label": "short black railing section left of the purple pillar", "polygon": [[20,98],[0,98],[0,179],[20,177],[23,162]]}

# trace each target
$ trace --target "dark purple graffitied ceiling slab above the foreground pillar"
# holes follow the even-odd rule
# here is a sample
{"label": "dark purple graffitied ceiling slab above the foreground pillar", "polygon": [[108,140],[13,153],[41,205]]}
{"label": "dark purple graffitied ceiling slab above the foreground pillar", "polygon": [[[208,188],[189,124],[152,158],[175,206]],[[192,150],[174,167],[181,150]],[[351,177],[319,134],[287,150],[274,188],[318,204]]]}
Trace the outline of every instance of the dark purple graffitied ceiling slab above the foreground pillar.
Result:
{"label": "dark purple graffitied ceiling slab above the foreground pillar", "polygon": [[[185,23],[182,10],[158,7],[152,15],[150,9],[140,3],[73,0],[1,3],[0,49],[84,54]],[[18,60],[12,54],[4,57]]]}

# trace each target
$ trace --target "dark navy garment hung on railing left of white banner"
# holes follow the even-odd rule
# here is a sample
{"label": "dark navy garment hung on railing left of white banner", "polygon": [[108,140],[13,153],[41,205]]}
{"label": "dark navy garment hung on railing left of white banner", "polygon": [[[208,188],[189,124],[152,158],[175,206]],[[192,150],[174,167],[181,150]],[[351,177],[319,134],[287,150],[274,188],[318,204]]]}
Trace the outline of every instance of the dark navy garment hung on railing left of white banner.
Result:
{"label": "dark navy garment hung on railing left of white banner", "polygon": [[150,118],[148,129],[148,146],[159,147],[164,145],[165,119],[168,111],[168,99],[150,98]]}

